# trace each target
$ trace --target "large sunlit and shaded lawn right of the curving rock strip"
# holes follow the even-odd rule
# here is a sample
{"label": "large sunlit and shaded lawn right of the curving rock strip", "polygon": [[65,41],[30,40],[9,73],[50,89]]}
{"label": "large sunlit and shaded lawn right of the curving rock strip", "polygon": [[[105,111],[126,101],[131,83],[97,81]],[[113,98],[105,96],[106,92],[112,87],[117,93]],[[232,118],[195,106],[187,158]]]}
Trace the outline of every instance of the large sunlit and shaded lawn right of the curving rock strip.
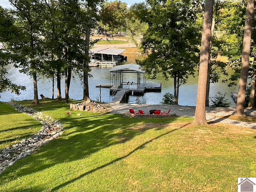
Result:
{"label": "large sunlit and shaded lawn right of the curving rock strip", "polygon": [[0,191],[230,192],[238,177],[256,177],[254,129],[186,126],[192,118],[67,116],[64,101],[22,104],[66,130],[0,175]]}

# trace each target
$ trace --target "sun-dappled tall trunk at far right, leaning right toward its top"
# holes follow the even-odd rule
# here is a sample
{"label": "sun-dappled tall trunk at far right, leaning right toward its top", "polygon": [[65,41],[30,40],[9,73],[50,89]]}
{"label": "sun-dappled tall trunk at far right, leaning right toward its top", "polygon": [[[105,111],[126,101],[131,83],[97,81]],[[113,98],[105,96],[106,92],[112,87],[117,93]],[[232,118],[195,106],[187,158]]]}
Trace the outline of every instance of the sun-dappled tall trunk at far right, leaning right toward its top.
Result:
{"label": "sun-dappled tall trunk at far right, leaning right toward its top", "polygon": [[246,8],[246,20],[244,25],[244,42],[242,53],[242,68],[238,87],[238,98],[236,102],[235,116],[245,116],[244,103],[246,94],[246,84],[249,68],[250,46],[252,37],[252,18],[254,12],[254,0],[248,0]]}

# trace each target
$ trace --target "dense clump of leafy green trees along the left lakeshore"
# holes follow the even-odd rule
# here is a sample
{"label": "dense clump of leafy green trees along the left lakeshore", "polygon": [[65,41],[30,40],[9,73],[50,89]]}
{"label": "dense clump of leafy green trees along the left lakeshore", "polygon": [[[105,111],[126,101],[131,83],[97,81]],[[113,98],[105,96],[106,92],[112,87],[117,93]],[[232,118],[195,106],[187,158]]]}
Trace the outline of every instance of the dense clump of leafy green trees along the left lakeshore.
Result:
{"label": "dense clump of leafy green trees along the left lakeshore", "polygon": [[[11,12],[2,14],[1,9],[0,42],[6,48],[6,56],[0,55],[0,59],[14,63],[20,72],[33,76],[35,97],[38,95],[38,74],[43,78],[57,74],[57,82],[60,82],[61,75],[66,73],[68,93],[71,73],[89,70],[84,65],[90,60],[85,54],[89,43],[84,36],[90,36],[88,29],[95,27],[98,8],[103,0],[10,2],[13,5]],[[60,90],[60,83],[58,85]]]}

